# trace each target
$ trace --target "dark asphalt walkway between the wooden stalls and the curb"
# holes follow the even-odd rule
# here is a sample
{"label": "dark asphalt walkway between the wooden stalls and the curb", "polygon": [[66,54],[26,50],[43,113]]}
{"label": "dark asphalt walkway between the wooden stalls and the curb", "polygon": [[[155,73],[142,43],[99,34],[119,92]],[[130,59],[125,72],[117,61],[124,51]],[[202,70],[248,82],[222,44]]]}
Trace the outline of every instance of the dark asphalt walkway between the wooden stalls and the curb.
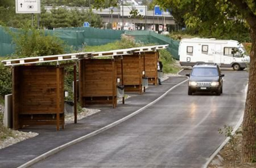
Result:
{"label": "dark asphalt walkway between the wooden stalls and the curb", "polygon": [[186,79],[186,77],[170,77],[162,82],[161,86],[151,85],[143,95],[132,95],[125,104],[118,104],[115,109],[111,106],[100,107],[98,109],[101,109],[101,112],[83,118],[77,124],[66,124],[65,129],[61,131],[56,131],[54,126],[31,126],[21,129],[20,131],[37,132],[39,135],[1,149],[0,167],[18,167],[49,150],[118,121],[151,103],[171,87]]}

